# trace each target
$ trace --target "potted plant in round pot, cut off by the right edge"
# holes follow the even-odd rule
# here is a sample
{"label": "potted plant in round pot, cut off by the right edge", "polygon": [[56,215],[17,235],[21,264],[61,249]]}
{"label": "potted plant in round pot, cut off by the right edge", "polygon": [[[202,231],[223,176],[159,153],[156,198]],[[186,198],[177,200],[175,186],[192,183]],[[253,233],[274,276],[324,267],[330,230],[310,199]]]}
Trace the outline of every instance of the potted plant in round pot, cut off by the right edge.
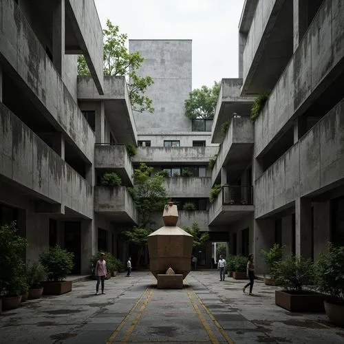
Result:
{"label": "potted plant in round pot, cut off by the right edge", "polygon": [[329,244],[315,264],[315,286],[328,297],[325,312],[331,323],[344,327],[344,246]]}

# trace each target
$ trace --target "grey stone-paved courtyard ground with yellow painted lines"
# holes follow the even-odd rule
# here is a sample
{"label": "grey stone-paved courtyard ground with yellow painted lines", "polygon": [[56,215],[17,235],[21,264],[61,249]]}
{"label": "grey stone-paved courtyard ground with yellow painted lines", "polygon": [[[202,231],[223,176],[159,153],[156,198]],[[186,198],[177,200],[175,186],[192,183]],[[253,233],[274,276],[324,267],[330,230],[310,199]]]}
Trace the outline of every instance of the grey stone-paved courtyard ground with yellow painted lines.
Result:
{"label": "grey stone-paved courtyard ground with yellow painted lines", "polygon": [[[191,272],[183,290],[158,290],[149,272],[75,283],[73,291],[21,303],[0,316],[0,343],[344,343],[325,314],[292,314],[275,305],[275,287],[220,282],[217,271]],[[344,315],[344,314],[343,314]]]}

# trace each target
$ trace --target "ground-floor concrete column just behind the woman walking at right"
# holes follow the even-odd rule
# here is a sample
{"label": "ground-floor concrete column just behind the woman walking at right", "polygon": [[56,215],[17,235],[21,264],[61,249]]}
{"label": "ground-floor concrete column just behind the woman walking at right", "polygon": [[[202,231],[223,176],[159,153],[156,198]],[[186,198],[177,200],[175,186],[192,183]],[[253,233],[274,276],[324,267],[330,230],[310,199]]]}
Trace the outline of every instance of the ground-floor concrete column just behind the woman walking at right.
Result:
{"label": "ground-floor concrete column just behind the woman walking at right", "polygon": [[275,221],[273,219],[256,219],[254,224],[255,245],[253,255],[255,256],[256,272],[266,273],[268,267],[261,255],[261,250],[270,250],[275,244]]}

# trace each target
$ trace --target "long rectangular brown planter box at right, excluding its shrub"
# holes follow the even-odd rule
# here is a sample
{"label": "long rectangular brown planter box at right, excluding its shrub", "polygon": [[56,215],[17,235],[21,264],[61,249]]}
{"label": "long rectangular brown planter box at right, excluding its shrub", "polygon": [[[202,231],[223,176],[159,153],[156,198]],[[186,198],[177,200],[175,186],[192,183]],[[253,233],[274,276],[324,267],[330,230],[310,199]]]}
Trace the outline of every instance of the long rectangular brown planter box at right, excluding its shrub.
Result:
{"label": "long rectangular brown planter box at right, excluding its shrub", "polygon": [[303,290],[301,293],[275,291],[275,303],[290,312],[325,312],[325,297],[316,292]]}

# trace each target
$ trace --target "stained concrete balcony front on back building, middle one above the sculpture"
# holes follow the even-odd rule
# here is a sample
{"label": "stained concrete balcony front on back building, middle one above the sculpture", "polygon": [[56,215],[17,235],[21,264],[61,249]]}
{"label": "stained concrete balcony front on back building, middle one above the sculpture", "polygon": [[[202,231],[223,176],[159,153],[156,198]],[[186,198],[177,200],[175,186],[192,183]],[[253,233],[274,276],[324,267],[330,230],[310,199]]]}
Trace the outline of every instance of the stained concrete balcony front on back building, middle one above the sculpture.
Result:
{"label": "stained concrete balcony front on back building, middle one above the sculpture", "polygon": [[169,197],[209,197],[211,178],[171,177],[164,179],[164,187]]}

